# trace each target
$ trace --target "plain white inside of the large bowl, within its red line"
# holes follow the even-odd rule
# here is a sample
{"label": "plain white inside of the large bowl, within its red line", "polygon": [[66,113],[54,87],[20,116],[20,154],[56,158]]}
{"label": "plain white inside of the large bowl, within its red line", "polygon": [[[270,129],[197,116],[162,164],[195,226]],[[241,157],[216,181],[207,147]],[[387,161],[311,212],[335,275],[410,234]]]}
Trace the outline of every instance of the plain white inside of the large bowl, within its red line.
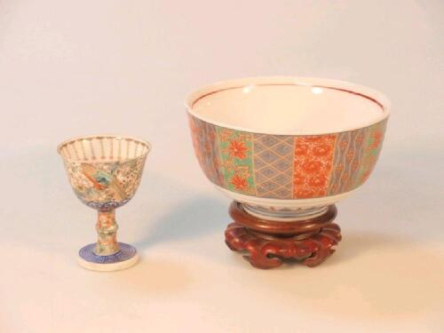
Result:
{"label": "plain white inside of the large bowl, within its red line", "polygon": [[211,123],[264,133],[355,129],[377,122],[384,114],[374,100],[349,91],[288,83],[217,91],[195,101],[193,110],[194,115],[202,115]]}

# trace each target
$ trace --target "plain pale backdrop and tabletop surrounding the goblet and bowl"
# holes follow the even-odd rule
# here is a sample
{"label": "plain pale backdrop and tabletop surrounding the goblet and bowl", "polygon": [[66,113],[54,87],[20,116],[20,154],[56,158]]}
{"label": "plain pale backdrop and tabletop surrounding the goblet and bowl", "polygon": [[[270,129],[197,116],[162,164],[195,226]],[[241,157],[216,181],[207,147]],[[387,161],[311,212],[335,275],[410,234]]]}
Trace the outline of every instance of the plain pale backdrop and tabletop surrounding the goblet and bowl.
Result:
{"label": "plain pale backdrop and tabletop surrounding the goblet and bowl", "polygon": [[[0,0],[0,332],[443,332],[444,3]],[[313,75],[392,99],[369,182],[338,204],[323,265],[251,268],[194,158],[183,99]],[[55,148],[123,133],[153,151],[117,211],[138,266],[75,264],[95,214]]]}

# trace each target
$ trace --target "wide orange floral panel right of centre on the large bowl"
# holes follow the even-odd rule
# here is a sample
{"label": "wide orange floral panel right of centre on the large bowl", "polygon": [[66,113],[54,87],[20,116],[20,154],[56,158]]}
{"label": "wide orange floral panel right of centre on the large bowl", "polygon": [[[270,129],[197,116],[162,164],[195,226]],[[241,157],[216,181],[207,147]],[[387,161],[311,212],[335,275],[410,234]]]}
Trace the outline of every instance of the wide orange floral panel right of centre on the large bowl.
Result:
{"label": "wide orange floral panel right of centre on the large bowl", "polygon": [[295,139],[293,197],[306,199],[327,194],[336,135]]}

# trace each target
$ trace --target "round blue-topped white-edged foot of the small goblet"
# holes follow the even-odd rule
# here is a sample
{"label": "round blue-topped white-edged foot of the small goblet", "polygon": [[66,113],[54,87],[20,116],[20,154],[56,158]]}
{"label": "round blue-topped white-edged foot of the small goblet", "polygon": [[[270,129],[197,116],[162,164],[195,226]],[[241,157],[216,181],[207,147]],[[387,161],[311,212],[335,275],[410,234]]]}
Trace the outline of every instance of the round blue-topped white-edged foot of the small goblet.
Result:
{"label": "round blue-topped white-edged foot of the small goblet", "polygon": [[139,261],[136,248],[130,244],[119,242],[119,251],[109,256],[94,253],[96,243],[91,243],[79,250],[77,263],[91,271],[110,272],[134,266]]}

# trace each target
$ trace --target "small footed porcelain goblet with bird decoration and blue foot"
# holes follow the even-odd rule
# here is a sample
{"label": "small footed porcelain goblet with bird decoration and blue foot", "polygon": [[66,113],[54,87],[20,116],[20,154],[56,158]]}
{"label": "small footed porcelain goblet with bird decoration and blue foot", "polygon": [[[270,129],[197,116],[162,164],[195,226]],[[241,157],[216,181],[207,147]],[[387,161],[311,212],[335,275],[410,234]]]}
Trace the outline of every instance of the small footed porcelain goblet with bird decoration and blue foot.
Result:
{"label": "small footed porcelain goblet with bird decoration and blue foot", "polygon": [[115,271],[137,263],[137,250],[117,242],[115,209],[136,193],[150,149],[145,140],[118,136],[69,139],[57,148],[75,195],[98,210],[98,241],[79,251],[80,266]]}

